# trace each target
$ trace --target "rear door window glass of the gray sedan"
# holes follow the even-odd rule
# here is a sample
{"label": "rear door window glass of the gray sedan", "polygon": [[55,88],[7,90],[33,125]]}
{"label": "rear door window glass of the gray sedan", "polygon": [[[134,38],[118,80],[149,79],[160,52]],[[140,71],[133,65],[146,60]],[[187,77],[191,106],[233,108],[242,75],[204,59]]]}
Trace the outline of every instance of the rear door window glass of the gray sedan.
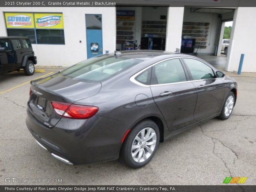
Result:
{"label": "rear door window glass of the gray sedan", "polygon": [[179,59],[166,60],[153,68],[151,85],[170,84],[187,81],[184,69]]}

